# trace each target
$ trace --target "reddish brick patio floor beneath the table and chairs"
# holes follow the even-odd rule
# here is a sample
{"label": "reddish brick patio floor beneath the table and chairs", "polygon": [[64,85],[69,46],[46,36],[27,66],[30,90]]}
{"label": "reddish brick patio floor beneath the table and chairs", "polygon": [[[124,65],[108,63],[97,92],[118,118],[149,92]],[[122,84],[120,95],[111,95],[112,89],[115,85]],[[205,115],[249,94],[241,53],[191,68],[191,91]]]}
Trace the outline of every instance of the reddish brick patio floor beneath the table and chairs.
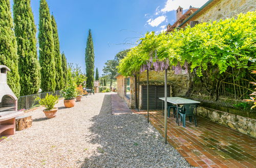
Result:
{"label": "reddish brick patio floor beneath the table and chairs", "polygon": [[[137,110],[133,110],[138,113]],[[145,115],[143,111],[139,112]],[[150,122],[164,136],[161,110],[151,110]],[[167,119],[167,141],[195,167],[256,167],[256,138],[198,117],[198,126],[186,119],[186,127]]]}

